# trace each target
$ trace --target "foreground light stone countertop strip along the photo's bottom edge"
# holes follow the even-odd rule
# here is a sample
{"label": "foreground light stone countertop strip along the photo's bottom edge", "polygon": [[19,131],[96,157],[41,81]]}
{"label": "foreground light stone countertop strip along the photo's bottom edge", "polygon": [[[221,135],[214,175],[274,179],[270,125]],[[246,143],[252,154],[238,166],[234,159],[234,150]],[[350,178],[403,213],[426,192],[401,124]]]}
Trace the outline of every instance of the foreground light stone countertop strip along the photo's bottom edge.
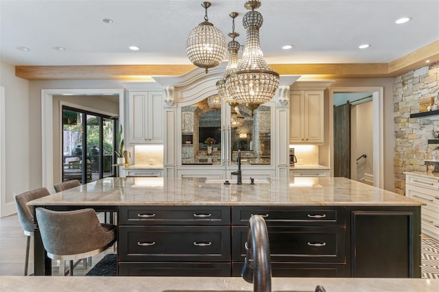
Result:
{"label": "foreground light stone countertop strip along the photo's bottom edge", "polygon": [[[439,280],[407,278],[272,278],[272,291],[327,292],[423,291],[436,292]],[[253,291],[242,278],[196,277],[25,277],[0,276],[1,292],[58,291]]]}

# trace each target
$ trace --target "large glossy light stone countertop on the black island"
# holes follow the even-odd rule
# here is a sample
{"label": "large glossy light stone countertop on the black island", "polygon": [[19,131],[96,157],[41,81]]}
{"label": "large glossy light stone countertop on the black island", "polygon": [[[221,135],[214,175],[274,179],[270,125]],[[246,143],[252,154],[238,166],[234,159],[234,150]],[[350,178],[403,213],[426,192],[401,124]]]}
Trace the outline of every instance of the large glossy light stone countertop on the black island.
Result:
{"label": "large glossy light stone countertop on the black island", "polygon": [[[308,182],[309,180],[309,182]],[[36,206],[422,206],[424,203],[347,178],[104,178],[28,203]],[[265,183],[260,183],[265,182]]]}

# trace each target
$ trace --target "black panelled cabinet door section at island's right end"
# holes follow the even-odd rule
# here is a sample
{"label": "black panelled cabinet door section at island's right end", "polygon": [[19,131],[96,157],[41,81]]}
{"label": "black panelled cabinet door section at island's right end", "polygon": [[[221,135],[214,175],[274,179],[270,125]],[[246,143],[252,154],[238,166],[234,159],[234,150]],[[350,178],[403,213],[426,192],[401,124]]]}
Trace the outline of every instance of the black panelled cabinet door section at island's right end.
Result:
{"label": "black panelled cabinet door section at island's right end", "polygon": [[420,206],[348,208],[351,277],[420,278]]}

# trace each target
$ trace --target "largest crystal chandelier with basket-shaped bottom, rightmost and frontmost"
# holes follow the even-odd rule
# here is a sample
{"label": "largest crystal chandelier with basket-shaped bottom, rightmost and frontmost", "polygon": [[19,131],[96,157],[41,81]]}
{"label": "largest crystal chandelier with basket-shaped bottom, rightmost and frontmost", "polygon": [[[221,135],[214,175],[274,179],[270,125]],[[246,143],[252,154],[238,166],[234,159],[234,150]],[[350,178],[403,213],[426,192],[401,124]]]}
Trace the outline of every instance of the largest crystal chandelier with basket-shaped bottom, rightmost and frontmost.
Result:
{"label": "largest crystal chandelier with basket-shaped bottom, rightmost and frontmost", "polygon": [[244,4],[248,10],[242,19],[246,29],[244,54],[235,72],[226,77],[226,88],[239,104],[255,110],[270,101],[279,86],[279,74],[271,69],[263,58],[259,44],[259,28],[262,14],[254,11],[261,6],[259,0],[249,0]]}

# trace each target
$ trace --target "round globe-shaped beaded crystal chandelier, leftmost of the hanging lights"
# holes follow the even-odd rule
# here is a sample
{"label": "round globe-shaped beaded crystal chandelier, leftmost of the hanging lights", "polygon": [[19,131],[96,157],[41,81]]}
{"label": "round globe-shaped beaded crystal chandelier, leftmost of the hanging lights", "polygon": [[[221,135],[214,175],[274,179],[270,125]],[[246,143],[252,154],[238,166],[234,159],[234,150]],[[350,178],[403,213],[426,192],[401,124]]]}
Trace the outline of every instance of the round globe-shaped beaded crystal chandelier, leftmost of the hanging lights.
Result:
{"label": "round globe-shaped beaded crystal chandelier, leftmost of the hanging lights", "polygon": [[226,37],[224,34],[209,23],[207,18],[207,8],[211,6],[210,2],[203,2],[204,22],[192,29],[186,40],[186,54],[189,60],[200,68],[213,68],[221,64],[226,58]]}

